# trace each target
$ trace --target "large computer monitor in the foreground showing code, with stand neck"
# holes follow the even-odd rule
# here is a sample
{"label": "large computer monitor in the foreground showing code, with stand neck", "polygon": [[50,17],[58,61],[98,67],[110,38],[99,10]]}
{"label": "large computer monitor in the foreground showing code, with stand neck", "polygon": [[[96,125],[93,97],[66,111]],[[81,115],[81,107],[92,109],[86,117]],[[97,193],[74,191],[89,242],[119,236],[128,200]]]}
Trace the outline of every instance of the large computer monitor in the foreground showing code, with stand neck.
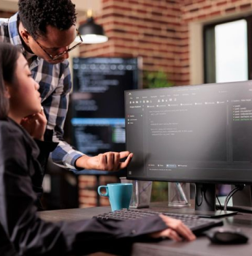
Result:
{"label": "large computer monitor in the foreground showing code, with stand neck", "polygon": [[216,184],[252,184],[252,81],[125,92],[127,178],[196,184],[215,211]]}

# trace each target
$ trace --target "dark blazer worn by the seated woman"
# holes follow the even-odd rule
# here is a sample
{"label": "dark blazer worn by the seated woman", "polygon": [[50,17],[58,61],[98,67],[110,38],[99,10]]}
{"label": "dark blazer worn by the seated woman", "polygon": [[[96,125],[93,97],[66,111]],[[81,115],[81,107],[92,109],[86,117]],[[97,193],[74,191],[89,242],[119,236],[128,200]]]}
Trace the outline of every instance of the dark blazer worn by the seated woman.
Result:
{"label": "dark blazer worn by the seated woman", "polygon": [[158,216],[126,222],[39,219],[36,192],[43,172],[37,157],[39,148],[28,133],[9,118],[0,120],[0,232],[6,238],[0,255],[12,255],[13,248],[18,255],[32,256],[101,251],[127,255],[132,242],[167,227]]}

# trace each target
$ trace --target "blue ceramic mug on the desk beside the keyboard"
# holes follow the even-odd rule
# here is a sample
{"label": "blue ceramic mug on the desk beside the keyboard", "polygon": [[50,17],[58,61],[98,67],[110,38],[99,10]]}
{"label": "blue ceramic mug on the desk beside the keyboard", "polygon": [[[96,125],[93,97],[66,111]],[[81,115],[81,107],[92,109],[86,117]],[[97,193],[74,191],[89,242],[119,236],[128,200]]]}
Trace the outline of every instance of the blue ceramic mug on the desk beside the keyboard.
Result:
{"label": "blue ceramic mug on the desk beside the keyboard", "polygon": [[[101,189],[105,189],[103,194]],[[112,211],[118,211],[123,208],[129,209],[133,185],[129,183],[114,183],[107,186],[99,186],[98,193],[103,197],[109,197]]]}

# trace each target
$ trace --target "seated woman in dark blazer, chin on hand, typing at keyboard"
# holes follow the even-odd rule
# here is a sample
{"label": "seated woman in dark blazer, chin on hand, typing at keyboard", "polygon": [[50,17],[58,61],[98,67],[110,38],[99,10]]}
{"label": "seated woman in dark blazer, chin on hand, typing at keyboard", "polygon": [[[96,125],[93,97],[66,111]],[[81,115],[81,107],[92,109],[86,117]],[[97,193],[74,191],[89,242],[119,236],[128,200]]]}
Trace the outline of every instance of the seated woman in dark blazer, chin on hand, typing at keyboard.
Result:
{"label": "seated woman in dark blazer, chin on hand, typing at keyboard", "polygon": [[[36,192],[42,171],[34,139],[43,140],[46,119],[38,89],[23,55],[12,45],[1,43],[0,234],[7,238],[3,239],[4,244],[0,241],[1,255],[74,255],[99,251],[123,254],[130,247],[126,244],[140,239],[195,239],[182,222],[164,216],[126,222],[91,219],[50,223],[39,219]],[[47,154],[47,143],[40,141],[38,145]]]}

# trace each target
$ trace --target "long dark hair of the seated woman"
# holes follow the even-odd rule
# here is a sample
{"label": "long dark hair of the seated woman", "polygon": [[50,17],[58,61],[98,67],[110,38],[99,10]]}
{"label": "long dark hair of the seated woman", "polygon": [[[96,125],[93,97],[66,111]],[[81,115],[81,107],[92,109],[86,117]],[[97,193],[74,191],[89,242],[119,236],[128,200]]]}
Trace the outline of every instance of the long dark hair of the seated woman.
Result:
{"label": "long dark hair of the seated woman", "polygon": [[9,99],[4,96],[4,83],[14,82],[19,54],[20,50],[15,46],[0,42],[0,119],[6,118],[9,111]]}

